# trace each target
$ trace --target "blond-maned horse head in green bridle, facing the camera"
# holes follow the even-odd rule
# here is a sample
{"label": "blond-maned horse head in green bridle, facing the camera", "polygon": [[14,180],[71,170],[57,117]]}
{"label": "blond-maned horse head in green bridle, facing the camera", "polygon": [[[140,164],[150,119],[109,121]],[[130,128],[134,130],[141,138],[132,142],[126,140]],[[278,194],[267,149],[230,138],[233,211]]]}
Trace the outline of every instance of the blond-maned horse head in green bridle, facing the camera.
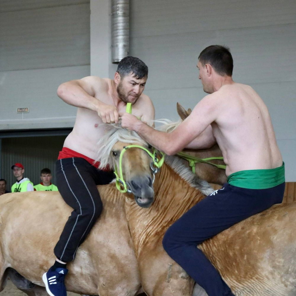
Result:
{"label": "blond-maned horse head in green bridle, facing the camera", "polygon": [[152,147],[136,132],[118,125],[107,124],[105,130],[105,135],[98,142],[99,168],[109,165],[117,172],[118,186],[121,189],[126,186],[126,191],[133,194],[140,207],[150,207],[154,201],[155,173],[153,160],[148,154],[152,154]]}

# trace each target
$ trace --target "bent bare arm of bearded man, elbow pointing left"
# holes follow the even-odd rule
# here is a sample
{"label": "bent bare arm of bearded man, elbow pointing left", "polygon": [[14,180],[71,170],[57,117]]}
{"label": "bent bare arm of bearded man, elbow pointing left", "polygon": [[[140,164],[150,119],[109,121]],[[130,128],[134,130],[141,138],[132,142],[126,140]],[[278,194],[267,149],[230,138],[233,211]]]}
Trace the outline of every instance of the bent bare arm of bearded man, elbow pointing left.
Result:
{"label": "bent bare arm of bearded man, elbow pointing left", "polygon": [[99,92],[98,89],[107,92],[106,82],[99,77],[88,76],[62,83],[57,89],[57,95],[69,105],[97,112],[104,123],[117,123],[117,108],[96,99],[95,96],[99,96],[99,94],[96,94],[96,92]]}

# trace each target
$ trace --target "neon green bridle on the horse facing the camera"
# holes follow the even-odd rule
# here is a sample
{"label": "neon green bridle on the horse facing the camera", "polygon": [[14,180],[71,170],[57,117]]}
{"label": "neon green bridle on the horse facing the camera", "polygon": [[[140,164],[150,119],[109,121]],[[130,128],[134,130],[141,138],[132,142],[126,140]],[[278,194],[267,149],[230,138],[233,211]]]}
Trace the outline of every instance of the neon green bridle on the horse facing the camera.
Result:
{"label": "neon green bridle on the horse facing the camera", "polygon": [[[131,114],[131,103],[126,104],[126,113]],[[132,193],[130,184],[128,184],[126,181],[123,180],[123,175],[122,175],[122,157],[123,157],[123,154],[126,152],[126,150],[129,148],[140,148],[146,151],[148,155],[152,158],[153,161],[150,163],[150,168],[153,174],[152,184],[154,184],[154,181],[155,181],[155,174],[158,173],[160,167],[163,165],[165,160],[165,154],[161,151],[159,151],[159,153],[162,155],[162,157],[160,159],[157,158],[157,150],[155,148],[153,148],[153,154],[152,154],[148,149],[139,145],[128,145],[123,147],[123,150],[120,152],[120,155],[119,155],[120,177],[118,176],[118,173],[117,173],[116,164],[115,164],[115,170],[114,170],[114,174],[116,176],[116,188],[122,193],[125,193],[125,192]],[[123,189],[122,189],[122,186],[123,186]]]}

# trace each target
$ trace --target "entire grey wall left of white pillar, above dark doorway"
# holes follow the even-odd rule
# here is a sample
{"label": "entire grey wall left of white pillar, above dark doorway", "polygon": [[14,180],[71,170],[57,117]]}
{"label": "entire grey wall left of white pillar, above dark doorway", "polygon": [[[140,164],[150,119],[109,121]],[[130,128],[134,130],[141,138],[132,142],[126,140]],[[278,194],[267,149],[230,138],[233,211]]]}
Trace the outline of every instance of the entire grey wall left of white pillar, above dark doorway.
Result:
{"label": "entire grey wall left of white pillar, above dark doorway", "polygon": [[89,16],[89,0],[0,2],[0,130],[73,126],[56,91],[90,73]]}

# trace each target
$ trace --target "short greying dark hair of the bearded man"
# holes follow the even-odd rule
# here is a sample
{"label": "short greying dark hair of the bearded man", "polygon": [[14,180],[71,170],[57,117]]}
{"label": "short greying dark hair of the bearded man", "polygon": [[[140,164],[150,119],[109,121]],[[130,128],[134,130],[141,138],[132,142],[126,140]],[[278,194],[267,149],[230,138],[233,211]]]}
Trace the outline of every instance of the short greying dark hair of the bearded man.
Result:
{"label": "short greying dark hair of the bearded man", "polygon": [[137,57],[124,57],[118,64],[117,71],[121,78],[132,73],[133,77],[142,79],[148,77],[147,65]]}

